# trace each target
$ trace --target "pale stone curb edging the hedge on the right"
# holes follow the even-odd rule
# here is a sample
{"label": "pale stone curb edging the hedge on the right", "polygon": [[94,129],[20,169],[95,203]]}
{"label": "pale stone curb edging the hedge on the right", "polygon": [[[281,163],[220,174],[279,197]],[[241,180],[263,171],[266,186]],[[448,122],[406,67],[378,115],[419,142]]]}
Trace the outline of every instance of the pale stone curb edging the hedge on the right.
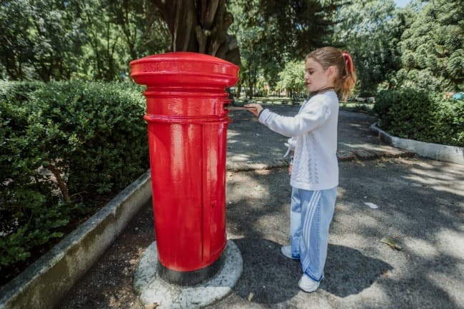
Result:
{"label": "pale stone curb edging the hedge on the right", "polygon": [[413,151],[419,156],[431,158],[436,161],[464,165],[464,148],[390,136],[390,134],[379,128],[377,123],[370,125],[370,131],[378,133],[380,139],[385,143],[389,143],[398,148],[407,149],[408,151]]}

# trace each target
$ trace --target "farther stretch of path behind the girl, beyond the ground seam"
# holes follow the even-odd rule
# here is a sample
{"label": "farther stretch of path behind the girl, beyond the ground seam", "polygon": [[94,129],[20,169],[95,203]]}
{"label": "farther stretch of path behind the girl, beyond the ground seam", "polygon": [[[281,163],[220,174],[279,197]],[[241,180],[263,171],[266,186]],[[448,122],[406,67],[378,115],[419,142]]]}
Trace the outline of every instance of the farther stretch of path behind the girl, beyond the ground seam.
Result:
{"label": "farther stretch of path behind the girl, beyond the ground seam", "polygon": [[[294,115],[300,106],[270,106],[281,115]],[[266,126],[260,126],[248,111],[233,111],[228,128],[228,169],[244,171],[263,167],[286,166],[283,158],[287,138]],[[413,153],[385,143],[370,133],[375,118],[364,113],[341,111],[338,123],[338,160],[368,160],[378,157],[404,157]]]}

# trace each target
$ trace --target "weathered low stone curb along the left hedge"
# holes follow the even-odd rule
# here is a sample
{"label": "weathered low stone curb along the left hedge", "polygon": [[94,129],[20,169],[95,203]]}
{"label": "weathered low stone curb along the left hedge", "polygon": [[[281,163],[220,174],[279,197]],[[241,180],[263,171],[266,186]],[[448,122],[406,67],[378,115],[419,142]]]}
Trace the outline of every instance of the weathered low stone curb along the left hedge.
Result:
{"label": "weathered low stone curb along the left hedge", "polygon": [[151,198],[144,173],[0,290],[0,309],[53,308]]}

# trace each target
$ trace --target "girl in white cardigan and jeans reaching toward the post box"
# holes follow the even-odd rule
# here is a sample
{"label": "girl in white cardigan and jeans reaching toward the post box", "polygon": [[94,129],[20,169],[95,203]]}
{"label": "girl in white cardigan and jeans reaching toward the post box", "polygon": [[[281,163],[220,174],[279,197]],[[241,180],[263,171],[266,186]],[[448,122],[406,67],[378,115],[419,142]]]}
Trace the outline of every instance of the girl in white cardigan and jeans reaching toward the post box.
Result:
{"label": "girl in white cardigan and jeans reaching toward the post box", "polygon": [[260,123],[291,137],[291,245],[281,251],[287,258],[300,260],[303,275],[298,285],[308,293],[317,290],[323,279],[337,196],[337,93],[343,98],[351,93],[354,71],[348,52],[323,47],[306,56],[305,81],[314,96],[296,116],[280,116],[258,103],[245,106]]}

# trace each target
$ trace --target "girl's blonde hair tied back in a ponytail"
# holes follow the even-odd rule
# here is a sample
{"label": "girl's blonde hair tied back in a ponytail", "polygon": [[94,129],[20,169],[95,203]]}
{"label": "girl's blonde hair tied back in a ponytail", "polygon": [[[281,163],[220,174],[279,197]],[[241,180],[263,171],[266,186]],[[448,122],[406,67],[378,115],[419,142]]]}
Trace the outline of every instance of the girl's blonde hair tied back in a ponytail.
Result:
{"label": "girl's blonde hair tied back in a ponytail", "polygon": [[343,100],[346,100],[356,83],[355,67],[348,51],[340,51],[330,46],[322,47],[306,55],[306,60],[308,59],[313,59],[321,64],[324,70],[328,69],[329,66],[336,67],[335,91],[340,93]]}

